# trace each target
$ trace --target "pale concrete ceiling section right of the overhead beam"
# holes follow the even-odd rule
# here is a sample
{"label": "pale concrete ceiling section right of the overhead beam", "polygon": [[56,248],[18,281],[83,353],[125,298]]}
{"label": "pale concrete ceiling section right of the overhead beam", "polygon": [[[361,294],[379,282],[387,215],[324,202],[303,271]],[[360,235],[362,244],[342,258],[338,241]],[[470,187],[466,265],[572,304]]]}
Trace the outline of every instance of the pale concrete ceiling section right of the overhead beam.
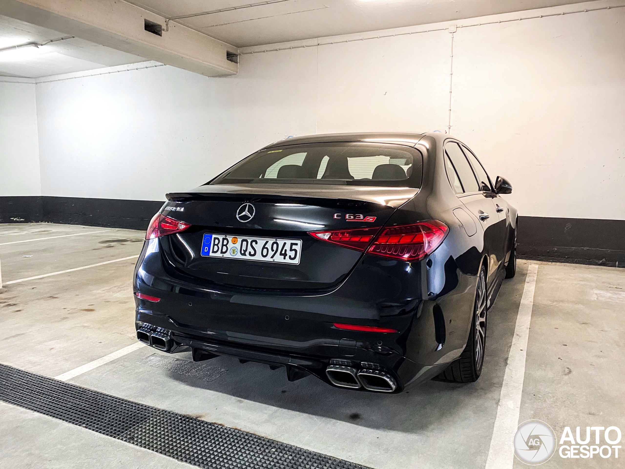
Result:
{"label": "pale concrete ceiling section right of the overhead beam", "polygon": [[[127,1],[164,18],[262,3],[261,0]],[[176,21],[240,48],[475,18],[581,1],[269,0],[268,4]]]}

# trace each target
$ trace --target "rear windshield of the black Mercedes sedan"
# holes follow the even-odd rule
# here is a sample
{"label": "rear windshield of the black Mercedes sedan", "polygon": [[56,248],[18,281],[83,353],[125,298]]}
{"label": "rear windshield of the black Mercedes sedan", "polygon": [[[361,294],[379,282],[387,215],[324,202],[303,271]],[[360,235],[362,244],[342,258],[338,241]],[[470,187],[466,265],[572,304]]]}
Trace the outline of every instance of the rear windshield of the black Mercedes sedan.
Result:
{"label": "rear windshield of the black Mercedes sedan", "polygon": [[312,143],[259,151],[210,184],[421,187],[421,153],[381,143]]}

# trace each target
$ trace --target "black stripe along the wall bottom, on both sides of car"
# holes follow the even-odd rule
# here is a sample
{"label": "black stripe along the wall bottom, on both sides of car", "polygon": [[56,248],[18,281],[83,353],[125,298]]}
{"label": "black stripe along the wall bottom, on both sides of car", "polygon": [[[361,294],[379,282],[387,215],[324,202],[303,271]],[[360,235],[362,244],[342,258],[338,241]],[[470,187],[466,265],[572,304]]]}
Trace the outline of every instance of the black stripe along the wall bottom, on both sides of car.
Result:
{"label": "black stripe along the wall bottom, on both sides of car", "polygon": [[[141,229],[163,202],[78,197],[0,197],[0,223]],[[519,258],[625,267],[625,220],[519,216]]]}

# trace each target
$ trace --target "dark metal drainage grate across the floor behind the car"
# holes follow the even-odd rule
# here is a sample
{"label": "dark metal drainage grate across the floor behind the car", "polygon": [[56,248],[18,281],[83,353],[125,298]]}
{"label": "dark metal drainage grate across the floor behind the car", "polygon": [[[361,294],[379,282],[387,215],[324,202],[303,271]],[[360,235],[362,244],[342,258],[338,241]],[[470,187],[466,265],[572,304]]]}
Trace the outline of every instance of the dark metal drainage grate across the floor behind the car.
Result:
{"label": "dark metal drainage grate across the floor behind the car", "polygon": [[2,364],[0,400],[202,468],[364,467]]}

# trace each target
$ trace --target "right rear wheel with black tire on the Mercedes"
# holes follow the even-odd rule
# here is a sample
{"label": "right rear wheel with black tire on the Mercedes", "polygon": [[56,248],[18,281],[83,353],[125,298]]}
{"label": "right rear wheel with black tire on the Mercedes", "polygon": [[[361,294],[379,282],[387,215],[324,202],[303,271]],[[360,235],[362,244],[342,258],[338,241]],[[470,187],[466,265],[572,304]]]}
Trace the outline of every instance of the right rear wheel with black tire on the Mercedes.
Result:
{"label": "right rear wheel with black tire on the Mercedes", "polygon": [[471,331],[467,345],[462,351],[460,358],[452,361],[451,364],[438,376],[438,381],[448,381],[451,383],[472,383],[477,381],[482,374],[484,366],[484,351],[486,351],[486,268],[482,266],[477,281],[475,302],[471,319]]}

